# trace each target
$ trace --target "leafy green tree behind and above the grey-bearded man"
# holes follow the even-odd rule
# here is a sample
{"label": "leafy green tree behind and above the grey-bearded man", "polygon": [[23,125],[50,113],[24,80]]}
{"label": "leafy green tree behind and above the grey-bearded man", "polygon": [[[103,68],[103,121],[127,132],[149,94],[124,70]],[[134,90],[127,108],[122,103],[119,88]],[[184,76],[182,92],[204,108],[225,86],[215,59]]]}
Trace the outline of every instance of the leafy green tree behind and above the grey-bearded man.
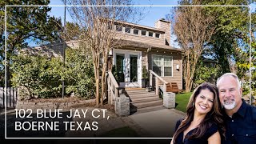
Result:
{"label": "leafy green tree behind and above the grey-bearded man", "polygon": [[[181,0],[180,5],[194,5],[198,0]],[[220,67],[218,74],[233,72],[245,81],[244,90],[249,90],[249,70],[251,69],[252,89],[255,89],[255,22],[256,13],[250,12],[249,5],[255,0],[200,1],[206,15],[214,16],[214,34],[204,47],[202,55],[214,59]],[[214,6],[215,5],[215,6]],[[218,6],[217,6],[218,5]],[[229,5],[229,6],[222,6]],[[232,5],[232,6],[230,6]],[[238,6],[235,6],[238,5]],[[251,22],[251,66],[250,66],[250,22]],[[246,88],[247,87],[247,88]]]}

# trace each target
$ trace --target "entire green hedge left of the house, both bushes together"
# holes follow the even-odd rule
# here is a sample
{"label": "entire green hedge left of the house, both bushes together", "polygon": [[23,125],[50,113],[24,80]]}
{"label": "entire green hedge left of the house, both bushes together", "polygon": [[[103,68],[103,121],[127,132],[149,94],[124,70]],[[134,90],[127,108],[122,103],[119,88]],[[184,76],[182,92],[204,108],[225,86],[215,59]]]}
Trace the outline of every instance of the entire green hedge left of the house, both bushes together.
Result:
{"label": "entire green hedge left of the house, both bushes together", "polygon": [[12,64],[14,86],[21,86],[29,98],[53,98],[62,95],[62,80],[66,94],[94,98],[94,70],[90,58],[79,50],[66,50],[66,64],[62,58],[19,54]]}

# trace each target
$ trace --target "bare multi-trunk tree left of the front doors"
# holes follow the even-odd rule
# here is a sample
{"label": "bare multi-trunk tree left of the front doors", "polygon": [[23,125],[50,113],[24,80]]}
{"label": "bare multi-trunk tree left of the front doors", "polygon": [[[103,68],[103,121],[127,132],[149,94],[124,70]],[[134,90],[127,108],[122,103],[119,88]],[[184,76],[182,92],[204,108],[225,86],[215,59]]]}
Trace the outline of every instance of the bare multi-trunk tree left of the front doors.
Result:
{"label": "bare multi-trunk tree left of the front doors", "polygon": [[134,7],[130,0],[78,0],[67,1],[72,6],[68,10],[71,17],[85,30],[83,41],[92,52],[96,86],[96,106],[103,104],[106,89],[106,69],[108,54],[118,46],[118,38],[113,29],[114,22],[127,22],[133,18]]}

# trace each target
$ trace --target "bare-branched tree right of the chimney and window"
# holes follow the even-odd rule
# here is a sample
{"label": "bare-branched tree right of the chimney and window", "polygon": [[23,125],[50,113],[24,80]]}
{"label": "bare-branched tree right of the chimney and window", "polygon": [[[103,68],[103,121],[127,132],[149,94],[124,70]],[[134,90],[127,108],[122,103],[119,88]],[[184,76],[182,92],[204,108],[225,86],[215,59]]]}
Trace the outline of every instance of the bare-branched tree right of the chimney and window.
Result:
{"label": "bare-branched tree right of the chimney and window", "polygon": [[[200,4],[194,1],[193,4]],[[183,50],[183,78],[185,79],[186,92],[193,85],[194,71],[201,57],[204,46],[209,42],[214,33],[212,25],[214,17],[206,15],[202,7],[178,7],[174,15],[174,34]]]}

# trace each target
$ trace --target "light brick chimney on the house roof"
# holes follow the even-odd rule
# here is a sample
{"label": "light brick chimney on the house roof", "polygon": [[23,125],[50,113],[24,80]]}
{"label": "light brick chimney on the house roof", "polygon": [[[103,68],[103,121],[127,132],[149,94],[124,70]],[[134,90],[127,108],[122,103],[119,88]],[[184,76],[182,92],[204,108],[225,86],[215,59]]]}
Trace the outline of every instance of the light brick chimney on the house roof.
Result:
{"label": "light brick chimney on the house roof", "polygon": [[154,22],[154,27],[165,30],[163,36],[164,44],[170,46],[170,22],[166,21],[165,18],[161,18],[157,22]]}

